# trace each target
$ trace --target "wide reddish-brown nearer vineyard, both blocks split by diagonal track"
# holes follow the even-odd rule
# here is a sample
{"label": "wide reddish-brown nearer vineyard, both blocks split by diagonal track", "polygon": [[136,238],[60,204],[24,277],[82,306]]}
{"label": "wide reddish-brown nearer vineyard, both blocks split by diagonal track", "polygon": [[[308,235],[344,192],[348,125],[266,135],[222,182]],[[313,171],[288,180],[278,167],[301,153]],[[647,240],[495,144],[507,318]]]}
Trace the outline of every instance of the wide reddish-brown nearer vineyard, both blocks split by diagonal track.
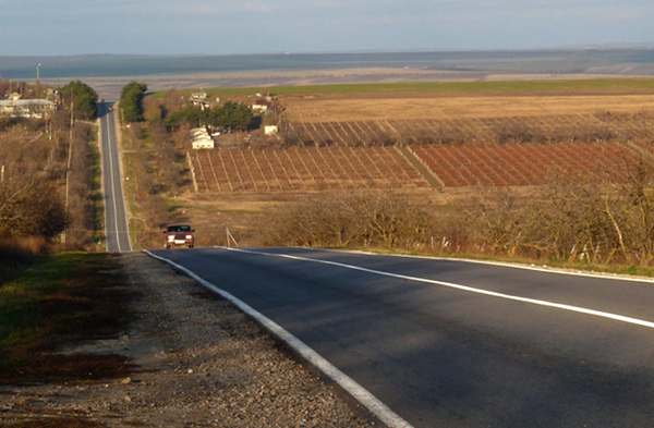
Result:
{"label": "wide reddish-brown nearer vineyard, both blocks split by diagonal track", "polygon": [[[536,186],[555,178],[627,180],[649,146],[617,143],[217,149],[189,155],[198,192]],[[417,168],[422,164],[424,169]]]}

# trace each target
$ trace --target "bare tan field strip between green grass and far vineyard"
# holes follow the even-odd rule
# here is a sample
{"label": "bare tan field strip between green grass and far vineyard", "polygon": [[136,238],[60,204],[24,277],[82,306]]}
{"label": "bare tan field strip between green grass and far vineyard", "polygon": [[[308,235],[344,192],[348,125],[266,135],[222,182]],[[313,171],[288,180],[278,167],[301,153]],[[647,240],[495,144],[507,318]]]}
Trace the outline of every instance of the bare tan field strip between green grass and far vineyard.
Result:
{"label": "bare tan field strip between green grass and far vineyard", "polygon": [[510,118],[653,112],[654,96],[286,98],[291,122]]}

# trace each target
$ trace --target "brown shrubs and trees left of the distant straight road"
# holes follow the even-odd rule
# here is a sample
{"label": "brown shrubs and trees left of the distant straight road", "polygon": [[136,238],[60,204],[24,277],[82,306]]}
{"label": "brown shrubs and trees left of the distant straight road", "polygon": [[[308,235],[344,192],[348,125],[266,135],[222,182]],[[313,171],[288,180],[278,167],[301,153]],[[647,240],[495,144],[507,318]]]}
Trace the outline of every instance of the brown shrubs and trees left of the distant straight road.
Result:
{"label": "brown shrubs and trees left of the distant straight road", "polygon": [[0,247],[5,259],[25,260],[49,248],[93,250],[101,241],[97,129],[87,121],[95,118],[97,95],[73,82],[62,88],[62,97],[73,98],[72,129],[70,102],[45,119],[0,118]]}

